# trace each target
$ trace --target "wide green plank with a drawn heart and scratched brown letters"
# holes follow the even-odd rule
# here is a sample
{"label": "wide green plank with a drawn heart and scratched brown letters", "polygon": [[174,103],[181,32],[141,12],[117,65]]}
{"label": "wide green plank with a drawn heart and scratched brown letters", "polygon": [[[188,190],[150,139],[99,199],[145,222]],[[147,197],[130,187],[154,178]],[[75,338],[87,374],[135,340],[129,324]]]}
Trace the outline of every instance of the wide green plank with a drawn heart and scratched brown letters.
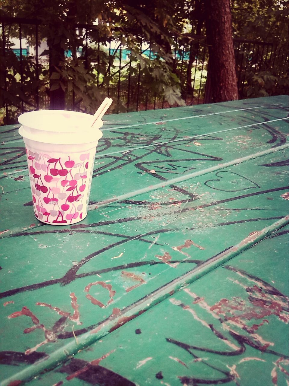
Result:
{"label": "wide green plank with a drawn heart and scratched brown letters", "polygon": [[[80,345],[91,344],[121,318],[169,296],[168,283],[175,289],[190,283],[286,224],[287,168],[277,161],[285,154],[262,157],[262,165],[273,166],[254,159],[223,175],[99,208],[90,213],[91,223],[61,230],[45,225],[3,239],[1,296],[8,305],[2,310],[2,350],[44,353],[37,366],[9,366],[8,373],[25,379],[19,377],[55,366],[64,360],[60,351],[72,355],[79,349],[73,334]],[[17,314],[27,309],[53,339],[35,328],[36,319]]]}

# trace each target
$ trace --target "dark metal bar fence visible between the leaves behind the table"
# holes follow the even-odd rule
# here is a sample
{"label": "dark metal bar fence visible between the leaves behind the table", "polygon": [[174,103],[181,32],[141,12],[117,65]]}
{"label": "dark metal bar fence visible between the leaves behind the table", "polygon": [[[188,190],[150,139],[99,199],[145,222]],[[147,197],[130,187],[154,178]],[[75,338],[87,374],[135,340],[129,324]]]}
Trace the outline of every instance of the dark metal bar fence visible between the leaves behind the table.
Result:
{"label": "dark metal bar fence visible between the leaves behind the table", "polygon": [[[16,122],[16,117],[25,111],[53,106],[53,98],[59,98],[57,91],[51,92],[50,55],[45,51],[40,55],[40,22],[31,19],[1,17],[2,49],[2,115],[1,124]],[[13,49],[10,43],[10,29],[18,33],[20,48]],[[27,28],[33,30],[34,41],[29,47],[22,47],[22,39]],[[153,87],[151,69],[156,60],[161,61],[149,41],[136,36],[138,47],[132,52],[119,35],[103,39],[96,25],[76,25],[82,34],[82,46],[76,55],[83,59],[86,69],[97,86],[99,100],[106,96],[114,100],[111,112],[139,111],[171,107],[164,90]],[[270,43],[234,39],[236,72],[240,98],[250,96],[250,79],[254,75],[274,67],[275,61],[286,63],[287,54]],[[278,52],[279,49],[279,52]],[[183,36],[174,39],[170,47],[171,71],[178,80],[181,98],[188,104],[199,104],[210,100],[210,87],[207,84],[208,47],[203,36]],[[138,55],[135,54],[138,51]],[[64,52],[68,63],[72,58],[70,50]],[[148,59],[146,68],[140,58]],[[73,59],[72,59],[73,60]],[[27,75],[28,74],[28,75]],[[248,78],[249,74],[249,78]],[[69,77],[69,75],[68,75]],[[252,78],[253,77],[253,78]],[[248,80],[249,79],[249,80]],[[254,81],[252,82],[254,83]],[[91,82],[91,80],[90,80]],[[60,90],[68,110],[86,111],[87,103],[77,92],[77,87]],[[248,92],[249,90],[249,92]],[[272,91],[273,92],[273,91]],[[54,103],[55,106],[55,103]]]}

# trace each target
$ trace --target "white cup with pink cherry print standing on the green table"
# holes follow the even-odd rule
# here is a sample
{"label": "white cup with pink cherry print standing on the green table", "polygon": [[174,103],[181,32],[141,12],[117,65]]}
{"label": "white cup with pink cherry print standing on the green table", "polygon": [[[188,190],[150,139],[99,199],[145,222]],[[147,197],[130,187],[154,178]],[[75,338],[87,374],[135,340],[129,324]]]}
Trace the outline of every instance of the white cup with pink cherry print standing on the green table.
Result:
{"label": "white cup with pink cherry print standing on the green table", "polygon": [[51,225],[77,223],[87,215],[99,120],[92,115],[40,110],[19,116],[35,217]]}

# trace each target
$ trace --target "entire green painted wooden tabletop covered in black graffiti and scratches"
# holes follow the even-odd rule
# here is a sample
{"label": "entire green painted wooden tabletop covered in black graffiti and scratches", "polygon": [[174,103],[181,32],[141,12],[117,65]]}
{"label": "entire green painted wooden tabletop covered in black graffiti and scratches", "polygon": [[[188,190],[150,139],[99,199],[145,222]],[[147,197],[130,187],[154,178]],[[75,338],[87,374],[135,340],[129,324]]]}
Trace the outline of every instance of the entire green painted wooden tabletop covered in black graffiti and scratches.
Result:
{"label": "entire green painted wooden tabletop covered in black graffiti and scratches", "polygon": [[1,128],[1,385],[288,385],[288,97],[106,119],[63,227]]}

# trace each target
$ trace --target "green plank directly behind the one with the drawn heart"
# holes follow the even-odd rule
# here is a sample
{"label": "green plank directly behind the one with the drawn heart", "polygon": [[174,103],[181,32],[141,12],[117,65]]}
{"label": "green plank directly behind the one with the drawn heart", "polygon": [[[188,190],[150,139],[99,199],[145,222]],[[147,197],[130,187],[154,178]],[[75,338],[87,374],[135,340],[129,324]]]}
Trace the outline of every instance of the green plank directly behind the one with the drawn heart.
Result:
{"label": "green plank directly behind the one with the drawn heart", "polygon": [[[232,122],[229,120],[230,123]],[[234,125],[236,125],[235,122]],[[99,206],[99,202],[102,201],[109,203],[111,200],[133,197],[141,191],[152,191],[158,187],[161,181],[170,185],[174,178],[181,176],[181,178],[187,179],[193,177],[195,171],[202,173],[203,170],[206,170],[204,173],[207,173],[210,167],[219,169],[226,162],[242,162],[239,157],[254,157],[256,152],[262,155],[260,151],[275,151],[276,147],[283,146],[283,144],[286,146],[287,130],[288,123],[285,119],[271,124],[223,130],[217,135],[207,134],[197,139],[168,141],[161,146],[147,147],[143,145],[143,147],[134,148],[121,154],[102,156],[101,152],[97,152],[90,195],[91,205]],[[115,139],[114,141],[119,149],[119,140]],[[125,141],[128,141],[128,137]],[[130,139],[130,143],[133,143],[132,139]],[[7,144],[5,149],[7,151],[7,163],[4,165],[6,169],[3,169],[3,174],[5,175],[1,182],[2,193],[4,192],[1,231],[9,229],[5,233],[8,235],[29,229],[33,223],[36,226],[41,226],[42,223],[34,218],[31,211],[32,201],[29,176],[26,171],[26,156],[22,155],[24,148]],[[124,149],[123,145],[121,145],[121,149]],[[20,154],[19,157],[18,154]],[[12,161],[10,162],[9,159]],[[133,179],[134,188],[128,183],[127,176],[129,179]],[[170,180],[172,180],[171,183]],[[117,184],[116,181],[118,181]],[[107,189],[108,186],[109,190]],[[20,195],[19,192],[21,192]],[[18,196],[20,200],[17,200]],[[25,197],[25,200],[22,200],[22,197]],[[10,215],[9,208],[12,200],[15,213],[19,214],[18,218]],[[94,209],[93,205],[91,209]]]}

